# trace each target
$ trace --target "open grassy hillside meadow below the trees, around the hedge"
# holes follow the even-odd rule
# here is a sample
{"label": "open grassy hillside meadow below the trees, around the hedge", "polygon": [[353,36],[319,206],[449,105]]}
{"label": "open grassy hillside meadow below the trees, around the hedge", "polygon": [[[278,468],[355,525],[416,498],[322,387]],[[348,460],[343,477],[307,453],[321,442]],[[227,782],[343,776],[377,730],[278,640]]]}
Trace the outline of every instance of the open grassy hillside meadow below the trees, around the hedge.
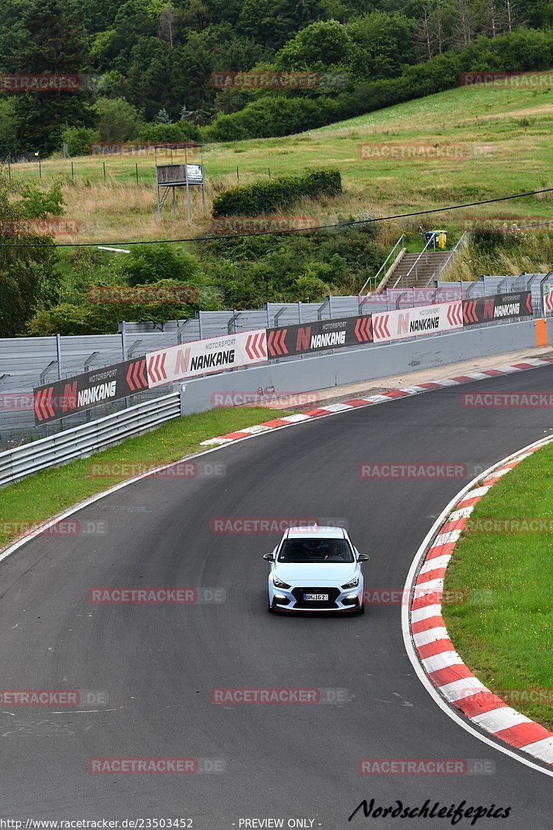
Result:
{"label": "open grassy hillside meadow below the trees, around the hedge", "polygon": [[[195,193],[192,225],[188,225],[182,194],[177,222],[172,222],[171,209],[165,208],[163,235],[183,237],[205,232],[211,199],[236,183],[237,167],[240,183],[246,183],[268,176],[269,170],[270,175],[275,175],[300,173],[321,164],[336,165],[342,173],[342,197],[301,208],[301,212],[312,213],[321,223],[366,209],[383,216],[547,188],[553,181],[552,122],[551,87],[459,87],[304,134],[208,145],[204,149],[206,217],[201,213],[199,193]],[[405,143],[423,145],[426,157],[386,158],[381,147],[375,146],[397,147]],[[363,145],[370,147],[370,158],[361,157]],[[427,148],[433,146],[442,152],[449,147],[461,158],[429,158],[432,150]],[[173,154],[173,161],[181,160],[180,151]],[[41,167],[44,180],[64,178],[65,214],[79,222],[79,234],[61,241],[159,236],[153,155],[74,159],[72,183],[70,161],[51,159]],[[17,188],[28,178],[37,178],[38,165],[14,165],[11,174]],[[549,198],[530,198],[478,208],[477,215],[549,217],[549,202]],[[464,215],[452,212],[439,220],[436,217],[436,222],[454,227],[460,213]],[[390,238],[393,232],[395,228],[390,231]]]}

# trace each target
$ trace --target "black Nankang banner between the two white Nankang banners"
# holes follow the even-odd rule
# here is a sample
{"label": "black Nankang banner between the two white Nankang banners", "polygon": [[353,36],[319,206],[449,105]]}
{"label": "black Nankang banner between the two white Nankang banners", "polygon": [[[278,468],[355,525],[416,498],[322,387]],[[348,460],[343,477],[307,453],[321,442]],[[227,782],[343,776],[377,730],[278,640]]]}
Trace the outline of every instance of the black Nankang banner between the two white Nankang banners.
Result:
{"label": "black Nankang banner between the two white Nankang banners", "polygon": [[320,352],[372,342],[371,315],[318,320],[316,323],[280,326],[267,329],[267,352],[270,358],[287,354]]}

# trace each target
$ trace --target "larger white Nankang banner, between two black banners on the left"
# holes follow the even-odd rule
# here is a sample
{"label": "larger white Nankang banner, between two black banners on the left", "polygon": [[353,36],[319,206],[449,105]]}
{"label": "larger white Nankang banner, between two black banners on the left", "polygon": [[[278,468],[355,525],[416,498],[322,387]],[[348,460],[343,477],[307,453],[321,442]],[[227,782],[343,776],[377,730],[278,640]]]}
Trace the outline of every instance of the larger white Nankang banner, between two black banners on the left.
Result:
{"label": "larger white Nankang banner, between two black banners on the left", "polygon": [[157,352],[148,352],[148,383],[150,388],[163,386],[199,374],[222,372],[237,366],[264,363],[267,359],[267,338],[264,329],[194,340]]}

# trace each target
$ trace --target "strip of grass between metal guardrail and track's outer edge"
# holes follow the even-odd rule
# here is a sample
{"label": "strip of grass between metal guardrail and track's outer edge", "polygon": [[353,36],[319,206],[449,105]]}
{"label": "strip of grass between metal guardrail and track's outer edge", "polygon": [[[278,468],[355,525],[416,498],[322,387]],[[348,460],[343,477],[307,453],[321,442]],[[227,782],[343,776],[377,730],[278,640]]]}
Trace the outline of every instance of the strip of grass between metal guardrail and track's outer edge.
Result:
{"label": "strip of grass between metal guardrail and track's outer edge", "polygon": [[[8,485],[0,490],[0,550],[21,535],[21,531],[17,532],[14,528],[17,523],[34,525],[67,510],[76,502],[108,490],[119,481],[204,450],[206,447],[200,444],[207,438],[291,414],[290,411],[248,407],[213,409],[211,412],[187,415],[88,458],[37,472]],[[120,475],[92,476],[93,463],[113,466],[115,471],[117,466],[124,464],[127,471]]]}

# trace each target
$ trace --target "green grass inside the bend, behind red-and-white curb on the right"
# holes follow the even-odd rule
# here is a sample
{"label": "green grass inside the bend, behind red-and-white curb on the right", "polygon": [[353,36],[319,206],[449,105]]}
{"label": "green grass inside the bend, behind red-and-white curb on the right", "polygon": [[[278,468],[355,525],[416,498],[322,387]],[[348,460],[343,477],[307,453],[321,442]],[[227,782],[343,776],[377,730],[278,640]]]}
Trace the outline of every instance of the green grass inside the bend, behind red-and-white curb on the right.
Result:
{"label": "green grass inside the bend, behind red-and-white curb on the right", "polygon": [[[550,530],[525,522],[545,520]],[[521,522],[512,526],[512,522]],[[505,524],[507,523],[507,524]],[[553,730],[553,444],[521,461],[475,506],[455,545],[444,606],[454,647],[508,706]]]}

